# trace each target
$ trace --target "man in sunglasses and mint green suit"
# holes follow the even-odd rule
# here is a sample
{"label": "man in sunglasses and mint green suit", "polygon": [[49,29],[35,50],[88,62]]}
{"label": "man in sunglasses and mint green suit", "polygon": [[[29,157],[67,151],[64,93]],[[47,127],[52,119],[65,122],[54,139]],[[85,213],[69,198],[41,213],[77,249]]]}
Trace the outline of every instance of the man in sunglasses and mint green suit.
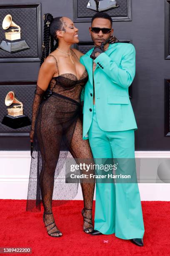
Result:
{"label": "man in sunglasses and mint green suit", "polygon": [[[95,47],[80,58],[89,74],[81,94],[83,139],[89,139],[95,159],[135,159],[134,131],[138,128],[128,94],[135,77],[135,47],[106,43],[113,34],[112,19],[107,13],[95,14],[89,31]],[[106,43],[104,47],[102,43]],[[129,165],[122,170],[132,171]],[[92,235],[113,233],[143,246],[144,223],[137,182],[96,182]]]}

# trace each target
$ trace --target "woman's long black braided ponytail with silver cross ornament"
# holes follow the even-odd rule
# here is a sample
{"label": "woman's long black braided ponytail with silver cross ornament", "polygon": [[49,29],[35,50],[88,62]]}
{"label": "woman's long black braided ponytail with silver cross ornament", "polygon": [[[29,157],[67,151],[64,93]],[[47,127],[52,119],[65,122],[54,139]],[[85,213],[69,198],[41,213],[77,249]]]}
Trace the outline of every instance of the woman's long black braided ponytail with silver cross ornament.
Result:
{"label": "woman's long black braided ponytail with silver cross ornament", "polygon": [[[54,51],[58,46],[58,39],[56,36],[57,30],[64,31],[64,23],[62,17],[53,18],[50,13],[46,13],[43,15],[44,18],[44,38],[42,44],[42,56],[40,61],[40,67],[44,62],[45,58],[49,55],[50,52]],[[54,46],[54,40],[56,44]]]}

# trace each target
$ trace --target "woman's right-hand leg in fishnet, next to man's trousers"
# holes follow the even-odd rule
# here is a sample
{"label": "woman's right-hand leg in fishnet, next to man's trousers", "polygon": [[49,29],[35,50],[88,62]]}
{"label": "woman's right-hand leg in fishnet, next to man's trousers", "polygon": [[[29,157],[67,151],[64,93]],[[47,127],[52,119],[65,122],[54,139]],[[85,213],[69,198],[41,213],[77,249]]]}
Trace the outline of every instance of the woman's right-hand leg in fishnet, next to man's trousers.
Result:
{"label": "woman's right-hand leg in fishnet, next to man's trousers", "polygon": [[[75,125],[74,133],[70,143],[70,148],[70,152],[72,156],[75,158],[77,164],[94,164],[89,141],[82,139],[82,122],[80,121],[80,119],[77,120],[77,123]],[[81,174],[89,174],[90,176],[90,174],[95,174],[95,171],[92,168],[90,168],[87,172],[87,168],[85,168],[81,170]],[[85,210],[83,215],[86,218],[92,218],[92,203],[95,189],[95,177],[92,177],[90,179],[80,179],[80,184],[82,188],[84,207],[85,209],[91,209]],[[90,220],[87,219],[87,221]],[[85,228],[88,228],[86,230],[86,233],[92,232],[93,230],[92,224],[89,224],[87,222],[84,222],[83,229]]]}

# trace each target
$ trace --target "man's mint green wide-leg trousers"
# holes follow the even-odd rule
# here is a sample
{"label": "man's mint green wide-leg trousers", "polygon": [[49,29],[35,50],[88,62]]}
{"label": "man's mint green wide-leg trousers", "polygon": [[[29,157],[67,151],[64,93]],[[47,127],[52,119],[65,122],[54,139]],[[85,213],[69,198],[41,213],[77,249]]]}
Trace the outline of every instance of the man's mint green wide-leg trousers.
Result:
{"label": "man's mint green wide-leg trousers", "polygon": [[[135,161],[134,130],[102,131],[97,123],[95,105],[88,136],[94,159],[133,158]],[[121,173],[125,174],[127,169],[122,166]],[[106,235],[115,233],[122,239],[143,238],[145,230],[138,182],[96,181],[94,228]]]}

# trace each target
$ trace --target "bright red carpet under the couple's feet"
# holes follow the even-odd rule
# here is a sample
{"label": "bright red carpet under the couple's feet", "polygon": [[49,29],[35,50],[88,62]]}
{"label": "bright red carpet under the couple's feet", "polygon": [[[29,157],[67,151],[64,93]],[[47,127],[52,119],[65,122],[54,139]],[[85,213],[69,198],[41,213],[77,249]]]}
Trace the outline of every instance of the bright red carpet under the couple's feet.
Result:
{"label": "bright red carpet under the couple's feet", "polygon": [[[26,200],[0,200],[0,247],[30,247],[36,256],[170,255],[170,202],[142,201],[144,246],[112,235],[91,236],[82,231],[82,201],[53,207],[55,222],[63,236],[47,235],[41,212],[25,212]],[[93,212],[94,218],[94,212]]]}

